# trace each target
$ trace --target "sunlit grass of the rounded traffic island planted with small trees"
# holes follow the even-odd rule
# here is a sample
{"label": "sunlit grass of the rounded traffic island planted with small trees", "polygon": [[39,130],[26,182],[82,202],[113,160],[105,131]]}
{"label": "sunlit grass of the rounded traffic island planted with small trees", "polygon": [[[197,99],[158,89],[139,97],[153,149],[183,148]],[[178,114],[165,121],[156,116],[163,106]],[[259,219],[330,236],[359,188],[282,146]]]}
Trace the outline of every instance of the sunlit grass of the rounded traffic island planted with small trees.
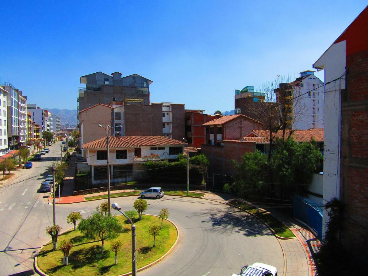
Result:
{"label": "sunlit grass of the rounded traffic island planted with small trees", "polygon": [[[105,240],[104,252],[101,253],[101,241],[89,241],[78,230],[69,230],[59,236],[58,248],[47,243],[38,253],[37,265],[48,275],[120,275],[131,271],[131,225],[124,216],[117,216],[124,231],[115,239],[120,240],[122,248],[118,252],[118,262],[115,265],[115,253],[111,248],[112,241]],[[163,220],[162,229],[156,237],[153,247],[153,237],[149,226],[161,224],[156,216],[142,215],[142,219],[134,222],[137,240],[137,269],[142,268],[162,257],[174,245],[177,239],[177,229],[168,220]],[[59,249],[62,240],[70,240],[73,247],[69,254],[68,265],[63,265],[63,252]]]}

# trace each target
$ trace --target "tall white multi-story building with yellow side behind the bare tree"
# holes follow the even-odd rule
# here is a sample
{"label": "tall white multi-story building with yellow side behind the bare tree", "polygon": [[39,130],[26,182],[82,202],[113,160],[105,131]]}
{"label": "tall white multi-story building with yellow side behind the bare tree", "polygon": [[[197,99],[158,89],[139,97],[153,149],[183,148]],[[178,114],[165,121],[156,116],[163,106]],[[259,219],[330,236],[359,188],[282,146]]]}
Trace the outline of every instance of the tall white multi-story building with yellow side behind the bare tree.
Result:
{"label": "tall white multi-story building with yellow side behind the bare tree", "polygon": [[323,81],[314,72],[300,72],[295,81],[281,83],[275,89],[276,101],[282,103],[289,128],[323,128]]}

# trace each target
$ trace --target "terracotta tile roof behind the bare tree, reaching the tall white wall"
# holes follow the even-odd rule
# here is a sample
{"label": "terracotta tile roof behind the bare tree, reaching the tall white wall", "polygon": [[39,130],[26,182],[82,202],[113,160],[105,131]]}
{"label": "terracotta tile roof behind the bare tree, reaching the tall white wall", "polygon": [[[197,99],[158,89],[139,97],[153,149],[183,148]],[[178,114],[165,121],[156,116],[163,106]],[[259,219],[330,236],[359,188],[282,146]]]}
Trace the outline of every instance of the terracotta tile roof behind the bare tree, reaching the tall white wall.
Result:
{"label": "terracotta tile roof behind the bare tree, reaching the tall white wall", "polygon": [[[290,130],[285,131],[285,137],[288,137],[290,134]],[[255,137],[249,137],[249,136]],[[241,141],[244,142],[256,142],[256,143],[269,143],[269,130],[252,130],[249,134],[245,135],[245,137],[241,138]],[[291,137],[294,138],[296,142],[309,142],[313,137],[317,142],[323,142],[324,138],[324,130],[323,128],[315,128],[311,130],[296,130],[291,134]],[[282,131],[278,131],[276,133],[276,137],[282,138]]]}

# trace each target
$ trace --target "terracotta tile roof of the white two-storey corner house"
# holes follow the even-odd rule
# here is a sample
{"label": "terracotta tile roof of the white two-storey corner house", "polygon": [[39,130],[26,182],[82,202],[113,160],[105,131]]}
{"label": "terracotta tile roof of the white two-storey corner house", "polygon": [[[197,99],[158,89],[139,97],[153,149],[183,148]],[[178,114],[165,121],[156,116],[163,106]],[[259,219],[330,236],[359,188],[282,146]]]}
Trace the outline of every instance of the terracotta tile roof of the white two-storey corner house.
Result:
{"label": "terracotta tile roof of the white two-storey corner house", "polygon": [[[186,145],[169,137],[163,136],[121,136],[119,138],[110,136],[110,148],[139,148],[140,146],[167,146],[167,145]],[[106,148],[106,139],[98,140],[83,144],[83,149],[101,149]]]}

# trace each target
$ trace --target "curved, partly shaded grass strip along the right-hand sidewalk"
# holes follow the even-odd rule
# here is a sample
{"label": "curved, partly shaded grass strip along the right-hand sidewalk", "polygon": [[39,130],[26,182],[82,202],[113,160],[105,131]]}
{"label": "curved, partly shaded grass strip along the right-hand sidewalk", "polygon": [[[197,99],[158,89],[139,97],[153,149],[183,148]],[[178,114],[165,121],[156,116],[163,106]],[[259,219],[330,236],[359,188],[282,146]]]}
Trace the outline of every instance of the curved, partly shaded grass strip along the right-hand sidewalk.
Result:
{"label": "curved, partly shaded grass strip along the right-hand sidewalk", "polygon": [[[256,215],[257,213],[257,208],[254,208],[254,206],[246,204],[243,201],[233,200],[231,201],[231,204],[238,206],[244,210],[247,210],[248,212],[254,215]],[[290,229],[285,224],[283,224],[278,219],[276,219],[276,217],[266,212],[262,212],[262,211],[260,211],[259,214],[256,216],[258,216],[263,221],[265,221],[273,229],[273,231],[275,231],[277,236],[280,236],[283,238],[294,238],[295,237],[293,232],[291,232]]]}

